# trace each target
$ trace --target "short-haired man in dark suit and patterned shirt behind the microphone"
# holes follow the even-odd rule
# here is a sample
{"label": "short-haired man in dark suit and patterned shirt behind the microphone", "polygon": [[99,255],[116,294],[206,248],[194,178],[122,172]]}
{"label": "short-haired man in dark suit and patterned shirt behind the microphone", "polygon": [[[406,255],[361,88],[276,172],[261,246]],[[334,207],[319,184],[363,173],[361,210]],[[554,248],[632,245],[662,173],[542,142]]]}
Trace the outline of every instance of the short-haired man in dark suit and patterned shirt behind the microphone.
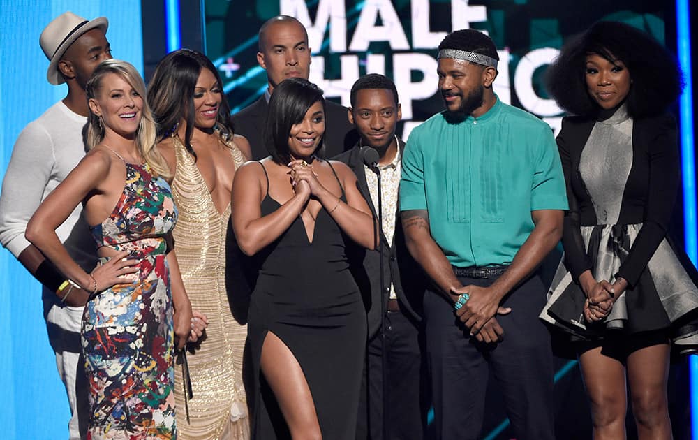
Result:
{"label": "short-haired man in dark suit and patterned shirt behind the microphone", "polygon": [[[380,246],[385,284],[380,284],[378,250],[357,250],[351,260],[357,263],[353,272],[366,301],[369,325],[357,439],[383,439],[384,425],[387,439],[419,439],[426,426],[426,375],[419,323],[424,277],[408,252],[399,219],[398,184],[405,143],[395,135],[401,118],[397,90],[383,75],[365,75],[352,86],[351,105],[349,121],[361,138],[352,149],[334,159],[352,168],[359,191],[376,215],[378,179],[373,170],[364,166],[361,146],[378,151],[383,205]],[[382,309],[385,310],[385,358],[380,331]],[[386,372],[385,387],[382,368]]]}

